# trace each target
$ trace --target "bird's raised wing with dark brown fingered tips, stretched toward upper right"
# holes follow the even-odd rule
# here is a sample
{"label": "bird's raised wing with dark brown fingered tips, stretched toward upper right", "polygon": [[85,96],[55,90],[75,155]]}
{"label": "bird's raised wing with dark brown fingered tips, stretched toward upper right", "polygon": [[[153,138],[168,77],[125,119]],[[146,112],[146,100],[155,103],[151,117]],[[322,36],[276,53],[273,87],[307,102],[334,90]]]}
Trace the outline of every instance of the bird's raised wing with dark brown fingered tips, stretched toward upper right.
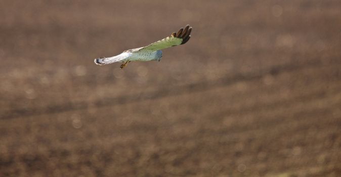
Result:
{"label": "bird's raised wing with dark brown fingered tips, stretched toward upper right", "polygon": [[181,28],[177,33],[173,32],[170,36],[164,39],[161,39],[159,41],[156,41],[154,43],[151,43],[150,45],[141,48],[139,51],[145,51],[145,50],[157,51],[157,50],[170,48],[173,46],[183,45],[191,38],[191,35],[190,35],[191,31],[192,31],[192,27],[187,25],[185,29]]}

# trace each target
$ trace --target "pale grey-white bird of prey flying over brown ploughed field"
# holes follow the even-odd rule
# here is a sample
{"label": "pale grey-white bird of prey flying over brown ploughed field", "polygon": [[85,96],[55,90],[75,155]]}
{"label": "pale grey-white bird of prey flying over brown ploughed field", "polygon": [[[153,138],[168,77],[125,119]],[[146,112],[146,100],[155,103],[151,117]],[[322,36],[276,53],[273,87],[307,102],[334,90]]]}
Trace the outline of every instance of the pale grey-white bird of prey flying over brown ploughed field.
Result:
{"label": "pale grey-white bird of prey flying over brown ploughed field", "polygon": [[107,65],[115,62],[123,62],[119,67],[122,69],[131,61],[160,61],[162,49],[183,45],[191,38],[191,31],[192,27],[187,25],[185,28],[180,28],[177,33],[173,32],[170,36],[153,42],[148,46],[127,50],[113,57],[97,58],[95,59],[95,63],[98,65]]}

